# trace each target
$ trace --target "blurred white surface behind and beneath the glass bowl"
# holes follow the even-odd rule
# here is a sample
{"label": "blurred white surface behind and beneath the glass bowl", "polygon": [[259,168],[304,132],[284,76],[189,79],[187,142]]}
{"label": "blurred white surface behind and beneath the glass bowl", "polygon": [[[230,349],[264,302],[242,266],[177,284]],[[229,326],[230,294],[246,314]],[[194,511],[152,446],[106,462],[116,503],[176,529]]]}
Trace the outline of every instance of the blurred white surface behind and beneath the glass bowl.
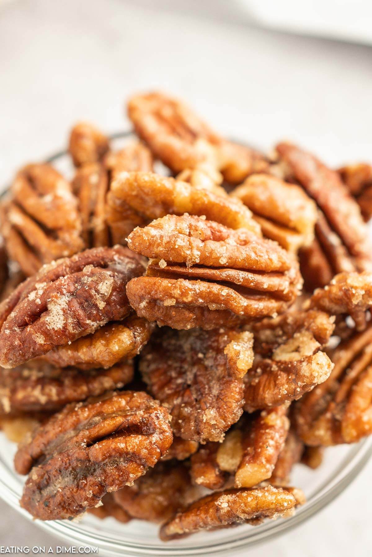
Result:
{"label": "blurred white surface behind and beneath the glass bowl", "polygon": [[[77,119],[107,131],[125,128],[125,97],[154,87],[185,97],[224,133],[265,148],[284,137],[330,164],[370,160],[372,50],[257,30],[230,4],[5,3],[0,182],[63,146]],[[181,14],[171,11],[176,6]],[[372,463],[307,524],[249,554],[370,556],[371,472]],[[1,502],[0,545],[20,543],[57,541]]]}

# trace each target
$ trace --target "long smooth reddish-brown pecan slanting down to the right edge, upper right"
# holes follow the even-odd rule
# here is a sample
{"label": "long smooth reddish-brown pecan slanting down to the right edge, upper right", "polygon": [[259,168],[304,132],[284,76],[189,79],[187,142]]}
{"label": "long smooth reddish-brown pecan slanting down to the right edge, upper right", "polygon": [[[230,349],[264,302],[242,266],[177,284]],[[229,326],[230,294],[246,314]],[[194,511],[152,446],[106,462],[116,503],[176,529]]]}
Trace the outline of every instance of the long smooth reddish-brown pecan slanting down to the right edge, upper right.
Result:
{"label": "long smooth reddish-brown pecan slanting down to the right edge, upper right", "polygon": [[[276,149],[287,168],[284,171],[288,174],[287,178],[297,180],[318,205],[316,239],[332,275],[343,271],[372,270],[368,230],[359,206],[342,183],[340,175],[296,145],[279,143]],[[306,252],[303,257],[307,257]],[[302,269],[306,285],[307,280],[314,285],[315,272],[316,268],[311,270],[309,263]],[[319,275],[316,286],[325,286],[326,283],[321,282],[322,276],[323,273]]]}

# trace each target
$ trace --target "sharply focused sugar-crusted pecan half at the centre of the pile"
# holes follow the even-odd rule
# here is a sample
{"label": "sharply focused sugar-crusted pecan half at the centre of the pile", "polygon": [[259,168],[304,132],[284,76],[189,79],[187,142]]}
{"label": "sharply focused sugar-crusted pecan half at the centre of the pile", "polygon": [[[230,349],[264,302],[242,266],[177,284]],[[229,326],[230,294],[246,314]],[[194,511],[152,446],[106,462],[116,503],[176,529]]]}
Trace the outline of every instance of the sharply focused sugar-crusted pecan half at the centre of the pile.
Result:
{"label": "sharply focused sugar-crusted pecan half at the centre of the pile", "polygon": [[276,242],[188,214],[136,228],[128,247],[156,258],[146,277],[127,286],[132,307],[175,329],[275,315],[294,302],[301,287],[297,262]]}

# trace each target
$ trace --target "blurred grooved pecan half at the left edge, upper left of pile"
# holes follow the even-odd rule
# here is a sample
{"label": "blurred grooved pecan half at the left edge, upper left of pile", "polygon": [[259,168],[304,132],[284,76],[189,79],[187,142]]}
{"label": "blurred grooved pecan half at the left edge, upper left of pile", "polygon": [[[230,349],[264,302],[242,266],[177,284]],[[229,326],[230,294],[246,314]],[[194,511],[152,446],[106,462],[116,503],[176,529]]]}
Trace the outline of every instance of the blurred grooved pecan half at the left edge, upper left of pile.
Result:
{"label": "blurred grooved pecan half at the left edge, upper left of pile", "polygon": [[71,184],[49,164],[23,167],[9,193],[1,208],[1,231],[9,258],[25,275],[83,248]]}

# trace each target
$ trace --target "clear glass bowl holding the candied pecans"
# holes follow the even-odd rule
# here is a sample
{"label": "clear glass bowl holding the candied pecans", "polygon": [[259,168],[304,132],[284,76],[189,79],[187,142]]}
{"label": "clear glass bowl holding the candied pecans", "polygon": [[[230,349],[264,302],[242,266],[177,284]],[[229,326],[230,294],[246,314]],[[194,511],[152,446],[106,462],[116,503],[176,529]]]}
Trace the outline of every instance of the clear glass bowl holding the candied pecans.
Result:
{"label": "clear glass bowl holding the candied pecans", "polygon": [[[131,133],[112,135],[115,147],[120,148],[130,136]],[[53,163],[67,177],[73,175],[66,152],[52,155],[47,162]],[[157,170],[163,171],[162,168]],[[15,444],[7,441],[0,432],[0,497],[27,519],[33,520],[19,504],[25,478],[14,471],[15,451]],[[85,514],[80,520],[36,520],[35,524],[69,544],[98,546],[100,555],[232,555],[234,550],[248,549],[254,544],[288,532],[320,511],[355,479],[371,455],[372,437],[369,437],[351,446],[328,448],[324,462],[317,470],[297,465],[291,483],[303,489],[307,497],[306,504],[299,507],[296,514],[288,519],[267,520],[259,526],[241,525],[213,532],[199,532],[188,538],[163,543],[158,538],[157,525],[139,520],[121,524],[113,519],[99,520],[93,515]]]}

